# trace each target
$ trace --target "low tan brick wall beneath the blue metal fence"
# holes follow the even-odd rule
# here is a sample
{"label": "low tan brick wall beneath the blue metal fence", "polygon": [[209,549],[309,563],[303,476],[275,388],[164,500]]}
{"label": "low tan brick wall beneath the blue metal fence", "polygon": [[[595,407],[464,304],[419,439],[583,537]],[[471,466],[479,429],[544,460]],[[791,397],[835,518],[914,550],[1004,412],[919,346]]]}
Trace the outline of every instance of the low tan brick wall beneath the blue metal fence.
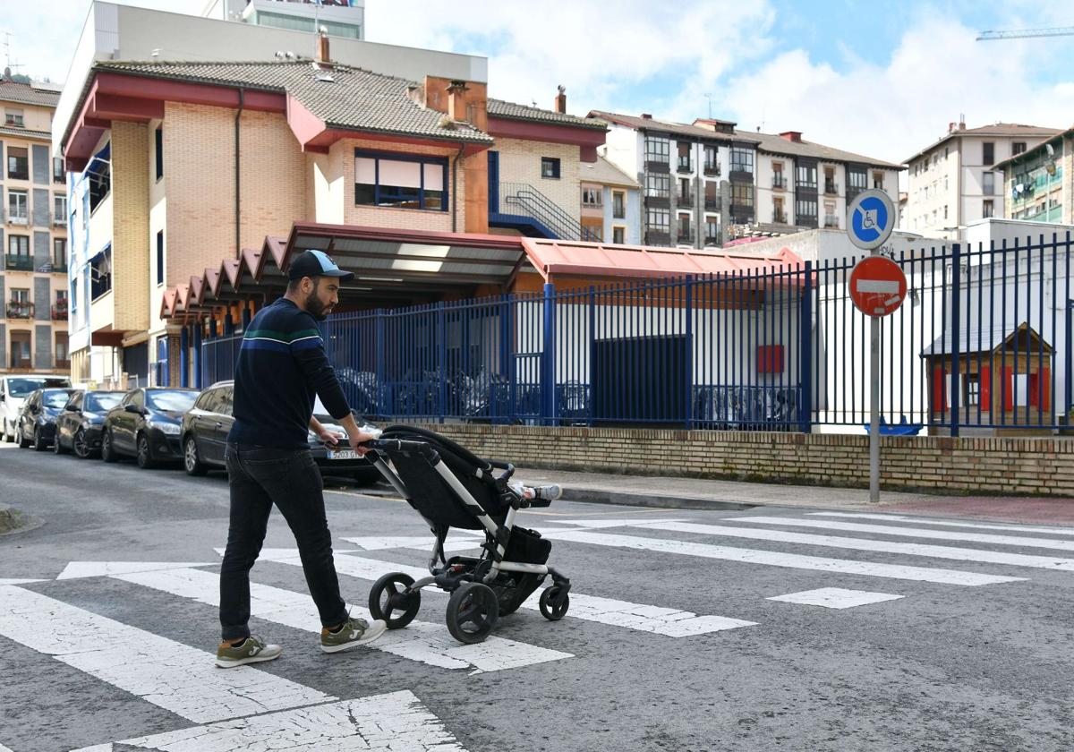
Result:
{"label": "low tan brick wall beneath the blue metal fence", "polygon": [[[430,425],[479,455],[520,466],[867,488],[869,437]],[[881,485],[892,491],[1074,496],[1074,440],[885,436]]]}

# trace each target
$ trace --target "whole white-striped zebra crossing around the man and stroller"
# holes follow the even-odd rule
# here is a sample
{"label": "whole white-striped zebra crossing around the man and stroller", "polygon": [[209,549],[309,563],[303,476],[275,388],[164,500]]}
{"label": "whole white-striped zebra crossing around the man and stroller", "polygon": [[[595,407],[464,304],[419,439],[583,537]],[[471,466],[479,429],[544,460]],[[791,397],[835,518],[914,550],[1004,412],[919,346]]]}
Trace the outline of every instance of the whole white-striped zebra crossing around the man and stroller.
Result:
{"label": "whole white-striped zebra crossing around the man and stroller", "polygon": [[[1026,587],[1042,570],[1060,576],[1074,570],[1074,558],[1050,553],[1074,548],[1072,529],[868,512],[811,512],[792,517],[755,510],[720,519],[719,523],[692,519],[712,520],[712,516],[662,515],[655,519],[579,516],[556,518],[548,524],[533,524],[560,544],[553,556],[568,570],[574,555],[595,549],[603,552],[609,567],[628,567],[633,558],[655,554],[672,565],[681,562],[682,572],[702,580],[703,562],[715,560],[761,569],[793,569],[816,587],[796,592],[757,592],[755,607],[736,602],[731,610],[740,612],[729,612],[724,604],[714,609],[720,613],[698,613],[678,608],[673,594],[667,592],[647,593],[641,589],[630,601],[587,594],[585,573],[575,572],[577,590],[572,589],[570,594],[571,608],[567,618],[553,627],[554,638],[548,630],[533,628],[514,632],[510,637],[494,634],[477,645],[461,645],[450,637],[442,623],[419,619],[405,630],[388,633],[369,649],[412,662],[434,676],[437,671],[461,671],[465,676],[503,674],[539,666],[556,674],[570,671],[572,661],[579,655],[579,648],[571,646],[572,621],[587,623],[593,630],[634,634],[641,640],[667,640],[662,643],[664,647],[680,641],[686,647],[697,639],[720,640],[724,639],[720,633],[741,630],[759,634],[763,639],[766,614],[770,611],[761,604],[772,604],[768,608],[824,609],[833,618],[852,614],[856,609],[884,609],[886,618],[896,620],[901,604],[912,601],[915,587],[921,584],[955,590],[974,588],[987,593],[995,587]],[[423,567],[400,564],[392,559],[404,559],[407,552],[427,551],[432,543],[427,535],[345,536],[343,540],[352,548],[336,551],[338,573],[366,583],[389,572],[424,576]],[[480,540],[479,535],[459,531],[449,538],[448,550],[476,549]],[[787,547],[796,550],[784,550]],[[1026,549],[1032,552],[1025,552]],[[854,552],[859,558],[830,555],[839,550]],[[391,555],[393,551],[404,555]],[[421,563],[424,558],[424,553],[416,554],[413,561]],[[266,548],[261,561],[301,567],[294,549]],[[700,568],[699,563],[702,563]],[[217,606],[215,564],[71,562],[55,581],[83,580],[92,587],[99,579],[106,579],[164,594],[178,609],[183,604]],[[985,570],[977,565],[985,565]],[[308,594],[267,584],[260,579],[264,576],[261,567],[253,573],[251,614],[285,627],[318,631],[316,608]],[[860,590],[862,578],[887,583],[889,587],[883,590],[895,592]],[[685,587],[690,584],[685,582]],[[121,740],[98,740],[89,747],[74,748],[77,752],[278,748],[466,752],[435,709],[423,702],[419,688],[347,697],[289,679],[286,671],[280,675],[252,666],[220,670],[213,666],[213,655],[205,649],[71,605],[49,594],[48,585],[47,579],[0,579],[0,643],[5,639],[23,646],[47,662],[63,664],[85,675],[102,690],[128,693],[173,713],[186,724]],[[437,611],[446,597],[434,589],[423,591],[423,604]],[[535,594],[523,609],[536,609],[537,599]],[[365,609],[351,608],[353,614],[368,618]],[[543,624],[541,621],[534,625],[538,623]],[[42,624],[48,624],[49,628],[42,630]],[[48,671],[47,666],[42,670]],[[5,743],[12,742],[0,735],[0,752],[21,752],[18,747],[9,750]]]}

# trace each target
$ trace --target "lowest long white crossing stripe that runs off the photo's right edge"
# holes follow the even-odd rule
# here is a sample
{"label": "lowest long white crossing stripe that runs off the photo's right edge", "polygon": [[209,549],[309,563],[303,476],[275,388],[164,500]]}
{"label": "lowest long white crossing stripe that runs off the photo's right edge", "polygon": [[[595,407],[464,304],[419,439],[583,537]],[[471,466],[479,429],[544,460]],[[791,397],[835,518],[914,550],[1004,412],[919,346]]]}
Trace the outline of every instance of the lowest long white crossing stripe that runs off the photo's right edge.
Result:
{"label": "lowest long white crossing stripe that runs off the photo's right edge", "polygon": [[1074,559],[1039,556],[1030,553],[985,551],[976,548],[957,548],[954,546],[934,546],[931,544],[908,544],[900,540],[845,538],[836,535],[813,535],[811,533],[794,533],[782,530],[750,530],[746,527],[705,525],[691,522],[657,522],[650,525],[636,526],[644,530],[666,530],[674,533],[697,533],[700,535],[719,535],[730,538],[748,538],[750,540],[802,544],[804,546],[825,546],[827,548],[842,548],[853,551],[901,553],[905,556],[950,559],[959,562],[979,562],[985,564],[1003,564],[1006,566],[1028,566],[1035,569],[1074,572]]}

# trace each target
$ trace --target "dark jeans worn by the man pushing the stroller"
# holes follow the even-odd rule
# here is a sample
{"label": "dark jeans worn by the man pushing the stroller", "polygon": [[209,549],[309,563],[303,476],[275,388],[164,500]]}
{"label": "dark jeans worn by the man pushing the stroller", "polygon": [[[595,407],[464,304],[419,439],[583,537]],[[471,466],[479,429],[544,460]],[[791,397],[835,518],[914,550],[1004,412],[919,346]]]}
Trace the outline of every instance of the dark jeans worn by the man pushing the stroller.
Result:
{"label": "dark jeans worn by the man pushing the stroller", "polygon": [[231,526],[220,567],[220,625],[223,639],[249,637],[250,567],[261,552],[275,504],[299,544],[302,569],[322,626],[347,619],[332,560],[332,534],[324,516],[324,485],[308,449],[274,449],[228,444]]}

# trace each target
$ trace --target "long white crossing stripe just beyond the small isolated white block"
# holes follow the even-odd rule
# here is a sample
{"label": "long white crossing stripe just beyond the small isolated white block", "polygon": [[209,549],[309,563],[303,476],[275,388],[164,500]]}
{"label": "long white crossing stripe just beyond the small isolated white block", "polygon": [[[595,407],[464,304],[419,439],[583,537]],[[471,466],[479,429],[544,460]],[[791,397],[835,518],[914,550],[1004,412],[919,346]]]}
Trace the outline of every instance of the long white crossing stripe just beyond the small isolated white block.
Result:
{"label": "long white crossing stripe just beyond the small isolated white block", "polygon": [[591,533],[587,531],[552,533],[553,540],[569,540],[595,546],[612,548],[628,548],[661,553],[676,553],[703,559],[720,559],[723,561],[741,562],[743,564],[764,564],[789,569],[812,569],[817,572],[836,572],[844,575],[865,575],[867,577],[886,577],[898,580],[915,580],[919,582],[937,582],[940,584],[983,585],[998,582],[1017,582],[1024,577],[1001,577],[999,575],[982,575],[974,572],[957,569],[934,569],[901,564],[877,564],[873,562],[856,562],[847,559],[826,559],[823,556],[806,556],[797,553],[781,553],[779,551],[758,551],[728,546],[712,546],[710,544],[686,543],[668,538],[642,538],[634,535],[616,535],[612,533]]}

